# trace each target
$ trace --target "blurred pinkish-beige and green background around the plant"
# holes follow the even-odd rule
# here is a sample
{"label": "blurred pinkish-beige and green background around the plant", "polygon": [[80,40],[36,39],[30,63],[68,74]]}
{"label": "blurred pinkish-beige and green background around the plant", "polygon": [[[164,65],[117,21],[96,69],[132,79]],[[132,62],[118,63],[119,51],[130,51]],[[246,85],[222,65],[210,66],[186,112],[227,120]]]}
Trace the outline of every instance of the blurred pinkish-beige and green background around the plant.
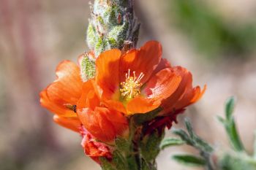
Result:
{"label": "blurred pinkish-beige and green background around the plant", "polygon": [[[228,148],[216,116],[227,97],[236,96],[236,122],[252,152],[256,128],[256,1],[141,0],[138,46],[162,43],[164,58],[187,67],[194,85],[208,85],[203,98],[178,120],[190,117],[197,134],[217,148]],[[99,170],[83,155],[80,136],[52,121],[39,106],[39,91],[55,80],[57,64],[87,49],[86,0],[0,0],[0,169]],[[167,131],[167,136],[171,136]],[[160,153],[159,170],[189,169],[170,159],[175,147]],[[192,168],[192,170],[196,168]],[[200,170],[200,169],[198,169]]]}

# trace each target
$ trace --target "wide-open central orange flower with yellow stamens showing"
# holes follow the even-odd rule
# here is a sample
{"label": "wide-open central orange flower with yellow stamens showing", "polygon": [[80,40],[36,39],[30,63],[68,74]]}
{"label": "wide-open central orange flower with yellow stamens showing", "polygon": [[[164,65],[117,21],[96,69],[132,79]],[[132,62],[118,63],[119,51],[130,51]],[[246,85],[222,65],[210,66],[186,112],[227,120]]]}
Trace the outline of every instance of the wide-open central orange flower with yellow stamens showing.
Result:
{"label": "wide-open central orange flower with yellow stamens showing", "polygon": [[162,47],[154,41],[123,55],[116,49],[105,51],[96,61],[97,95],[107,107],[126,115],[156,109],[181,82],[171,68],[160,68],[161,58]]}

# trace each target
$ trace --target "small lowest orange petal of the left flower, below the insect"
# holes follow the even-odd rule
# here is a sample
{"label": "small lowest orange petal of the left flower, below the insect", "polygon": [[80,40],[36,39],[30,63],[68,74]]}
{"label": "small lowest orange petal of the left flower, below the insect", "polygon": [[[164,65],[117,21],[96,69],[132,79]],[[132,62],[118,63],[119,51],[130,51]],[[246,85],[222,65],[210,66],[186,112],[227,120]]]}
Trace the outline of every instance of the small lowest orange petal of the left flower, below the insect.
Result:
{"label": "small lowest orange petal of the left flower, below the insect", "polygon": [[78,119],[78,117],[61,117],[59,115],[54,115],[53,120],[59,125],[65,128],[69,128],[72,131],[76,131],[76,132],[80,131],[80,126],[82,124]]}

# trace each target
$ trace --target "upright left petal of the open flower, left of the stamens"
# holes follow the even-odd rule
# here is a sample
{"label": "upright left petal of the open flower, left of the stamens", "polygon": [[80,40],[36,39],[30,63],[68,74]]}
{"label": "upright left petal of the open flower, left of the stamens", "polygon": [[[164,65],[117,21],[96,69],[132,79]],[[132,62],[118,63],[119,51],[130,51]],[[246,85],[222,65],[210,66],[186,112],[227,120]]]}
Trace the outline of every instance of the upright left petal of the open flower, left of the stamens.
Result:
{"label": "upright left petal of the open flower, left of the stamens", "polygon": [[96,61],[96,83],[102,89],[102,95],[106,98],[119,97],[119,59],[121,51],[108,50],[99,55]]}

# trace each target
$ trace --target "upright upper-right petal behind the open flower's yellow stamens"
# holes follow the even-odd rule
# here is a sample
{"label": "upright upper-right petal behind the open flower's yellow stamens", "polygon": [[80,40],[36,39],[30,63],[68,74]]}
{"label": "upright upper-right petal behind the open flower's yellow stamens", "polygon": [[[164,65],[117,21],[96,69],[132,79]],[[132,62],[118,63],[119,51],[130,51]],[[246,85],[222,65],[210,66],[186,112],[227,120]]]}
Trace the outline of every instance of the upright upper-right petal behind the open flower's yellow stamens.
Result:
{"label": "upright upper-right petal behind the open flower's yellow stamens", "polygon": [[125,74],[130,69],[135,71],[136,77],[140,73],[145,74],[142,83],[146,82],[151,77],[154,69],[157,68],[162,57],[162,46],[159,42],[150,41],[140,48],[140,50],[130,50],[121,57],[120,61],[120,80],[124,82]]}

